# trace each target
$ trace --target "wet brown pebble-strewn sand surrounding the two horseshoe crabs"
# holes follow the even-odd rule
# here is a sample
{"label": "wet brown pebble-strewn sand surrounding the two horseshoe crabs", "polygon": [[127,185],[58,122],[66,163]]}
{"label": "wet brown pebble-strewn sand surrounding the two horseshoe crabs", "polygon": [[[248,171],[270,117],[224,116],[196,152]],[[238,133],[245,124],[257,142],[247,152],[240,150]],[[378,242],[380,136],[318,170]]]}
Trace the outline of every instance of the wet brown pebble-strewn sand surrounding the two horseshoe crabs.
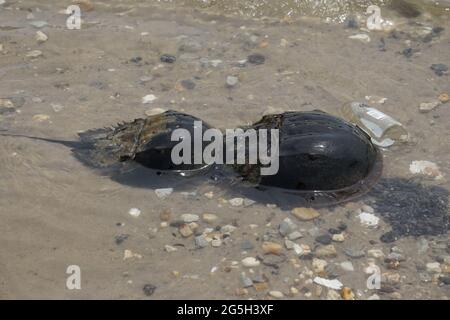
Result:
{"label": "wet brown pebble-strewn sand surrounding the two horseshoe crabs", "polygon": [[[347,101],[387,98],[383,104],[371,104],[403,123],[412,141],[383,151],[383,177],[410,178],[412,161],[429,160],[444,177],[423,178],[423,183],[449,190],[449,104],[419,112],[420,103],[450,92],[449,76],[430,69],[432,64],[450,65],[450,25],[445,18],[423,22],[444,28],[430,41],[414,37],[417,29],[403,25],[399,30],[412,33],[372,31],[367,33],[371,41],[365,43],[349,39],[363,31],[317,19],[255,21],[183,7],[132,8],[99,3],[86,12],[81,30],[66,29],[66,16],[58,13],[65,9],[62,3],[17,2],[0,11],[0,97],[25,99],[22,106],[0,114],[0,129],[74,140],[79,131],[143,117],[153,108],[183,111],[214,127],[235,128],[266,112],[320,109],[339,115]],[[34,18],[27,19],[30,11]],[[38,29],[29,24],[38,20],[48,22],[39,29],[48,36],[41,44],[35,40]],[[402,54],[408,47],[415,52],[409,58]],[[42,55],[27,57],[32,50]],[[165,53],[175,55],[176,62],[162,63]],[[253,53],[263,54],[264,64],[240,65]],[[225,83],[230,75],[239,78],[233,88]],[[182,80],[191,80],[195,87],[184,88]],[[143,104],[149,94],[157,99]],[[450,271],[448,233],[383,243],[380,236],[390,230],[389,221],[366,227],[358,218],[358,210],[371,204],[370,197],[319,209],[319,218],[300,221],[290,211],[295,205],[283,206],[275,197],[233,206],[228,200],[242,195],[232,188],[208,181],[190,185],[189,180],[160,179],[158,184],[174,192],[160,199],[151,188],[102,176],[62,145],[0,137],[0,297],[145,299],[146,284],[156,286],[151,299],[270,298],[271,290],[289,299],[340,296],[313,284],[316,276],[336,277],[356,299],[374,294],[381,299],[449,296],[449,286],[442,283]],[[205,196],[209,192],[212,197]],[[267,205],[277,201],[276,207]],[[129,215],[130,208],[139,208],[140,216]],[[225,225],[236,230],[221,238],[220,247],[198,249],[194,236],[184,238],[177,228],[161,227],[160,215],[167,210],[171,221],[186,213],[217,216],[212,225],[200,220],[199,230]],[[299,259],[285,248],[278,226],[286,217],[303,234],[295,242],[310,246],[314,258],[327,262],[326,270],[313,271],[313,260]],[[318,256],[317,236],[340,223],[347,226],[345,240],[332,242],[335,254]],[[121,234],[128,238],[116,244]],[[247,241],[253,249],[243,246]],[[264,255],[263,241],[281,244],[283,255]],[[165,245],[177,251],[167,252]],[[365,257],[345,253],[356,247]],[[141,257],[124,259],[125,250]],[[391,252],[402,256],[399,264],[385,261]],[[240,274],[251,273],[241,260],[257,256],[267,262],[254,268],[264,273],[264,285],[244,290]],[[344,261],[350,261],[354,271],[344,270]],[[382,290],[366,287],[369,275],[364,270],[370,263],[381,268]],[[81,268],[81,290],[66,288],[69,265]]]}

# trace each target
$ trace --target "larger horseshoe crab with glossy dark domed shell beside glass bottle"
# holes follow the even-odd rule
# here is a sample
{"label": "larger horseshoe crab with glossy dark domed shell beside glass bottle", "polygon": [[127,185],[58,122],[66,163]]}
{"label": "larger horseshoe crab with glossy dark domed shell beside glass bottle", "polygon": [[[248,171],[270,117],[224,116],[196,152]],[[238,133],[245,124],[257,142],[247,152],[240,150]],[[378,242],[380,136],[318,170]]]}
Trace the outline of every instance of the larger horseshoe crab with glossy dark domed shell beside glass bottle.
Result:
{"label": "larger horseshoe crab with glossy dark domed shell beside glass bottle", "polygon": [[310,202],[339,202],[368,191],[381,174],[381,154],[370,137],[324,112],[268,115],[251,128],[279,130],[275,175],[261,176],[260,164],[235,166],[244,179],[260,186],[286,189]]}

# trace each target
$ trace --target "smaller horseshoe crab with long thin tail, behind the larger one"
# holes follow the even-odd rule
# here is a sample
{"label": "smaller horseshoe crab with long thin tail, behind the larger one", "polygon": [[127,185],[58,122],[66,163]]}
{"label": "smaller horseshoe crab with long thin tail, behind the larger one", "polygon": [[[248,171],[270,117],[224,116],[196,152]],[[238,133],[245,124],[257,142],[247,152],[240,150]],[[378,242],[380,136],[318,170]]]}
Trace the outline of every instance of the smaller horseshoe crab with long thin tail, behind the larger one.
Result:
{"label": "smaller horseshoe crab with long thin tail, behind the larger one", "polygon": [[[155,170],[190,171],[204,167],[203,164],[174,164],[172,148],[179,141],[171,141],[175,129],[186,129],[193,136],[194,122],[200,119],[176,112],[136,119],[117,127],[95,129],[80,133],[83,149],[74,150],[80,160],[97,168],[107,168],[119,162],[135,161]],[[202,130],[210,128],[203,122]],[[191,140],[193,144],[193,139]],[[191,149],[194,150],[193,145]],[[191,163],[193,163],[191,158]]]}

